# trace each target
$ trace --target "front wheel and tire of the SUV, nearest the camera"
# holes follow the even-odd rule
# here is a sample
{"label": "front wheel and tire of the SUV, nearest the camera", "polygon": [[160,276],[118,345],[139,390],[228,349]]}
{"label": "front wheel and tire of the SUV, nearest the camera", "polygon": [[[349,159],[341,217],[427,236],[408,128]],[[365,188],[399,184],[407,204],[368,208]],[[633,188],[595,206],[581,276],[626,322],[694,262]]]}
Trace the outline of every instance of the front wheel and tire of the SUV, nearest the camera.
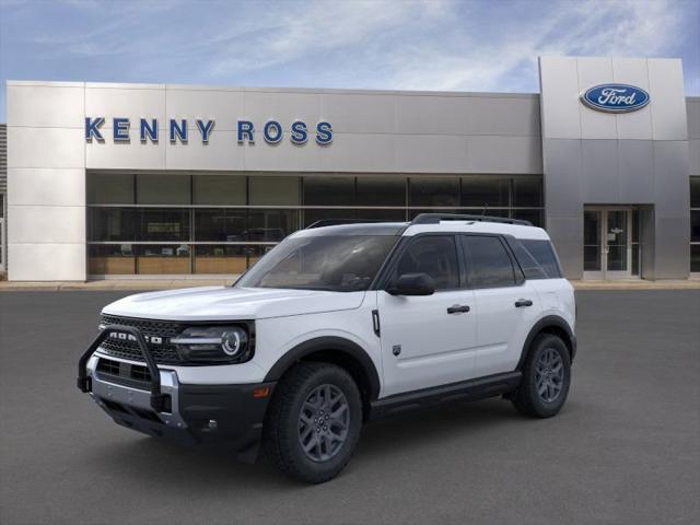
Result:
{"label": "front wheel and tire of the SUV, nearest the camera", "polygon": [[262,446],[290,478],[323,483],[348,464],[361,428],[362,398],[350,374],[335,364],[302,362],[275,390]]}

